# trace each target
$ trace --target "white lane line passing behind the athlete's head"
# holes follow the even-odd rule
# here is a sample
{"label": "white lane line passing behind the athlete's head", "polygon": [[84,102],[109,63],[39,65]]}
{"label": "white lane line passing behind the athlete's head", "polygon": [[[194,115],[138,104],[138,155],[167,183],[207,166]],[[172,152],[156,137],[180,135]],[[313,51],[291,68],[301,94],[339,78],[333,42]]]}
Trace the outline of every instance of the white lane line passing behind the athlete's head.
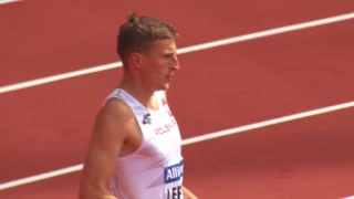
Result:
{"label": "white lane line passing behind the athlete's head", "polygon": [[[201,44],[197,44],[197,45],[191,45],[191,46],[178,49],[177,53],[184,54],[184,53],[201,51],[201,50],[222,46],[222,45],[227,45],[227,44],[231,44],[231,43],[254,40],[254,39],[259,39],[259,38],[291,32],[291,31],[295,31],[295,30],[308,29],[308,28],[312,28],[312,27],[319,27],[319,25],[324,25],[324,24],[329,24],[329,23],[340,22],[340,21],[350,20],[353,18],[354,18],[354,12],[351,12],[351,13],[335,15],[335,17],[331,17],[331,18],[324,18],[321,20],[298,23],[298,24],[293,24],[293,25],[281,27],[281,28],[270,29],[270,30],[266,30],[266,31],[261,31],[261,32],[228,38],[228,39],[212,41],[212,42],[208,42],[208,43],[201,43]],[[22,90],[22,88],[27,88],[27,87],[32,87],[32,86],[37,86],[37,85],[41,85],[41,84],[46,84],[46,83],[55,82],[55,81],[60,81],[60,80],[65,80],[65,78],[74,77],[74,76],[85,75],[85,74],[90,74],[90,73],[97,73],[101,71],[112,70],[112,69],[116,69],[116,67],[121,67],[121,66],[122,66],[122,62],[114,62],[114,63],[110,63],[110,64],[88,67],[85,70],[79,70],[79,71],[74,71],[74,72],[63,73],[63,74],[48,76],[48,77],[43,77],[43,78],[37,78],[37,80],[21,82],[21,83],[17,83],[17,84],[7,85],[7,86],[1,86],[0,94],[13,92],[13,91],[18,91],[18,90]]]}

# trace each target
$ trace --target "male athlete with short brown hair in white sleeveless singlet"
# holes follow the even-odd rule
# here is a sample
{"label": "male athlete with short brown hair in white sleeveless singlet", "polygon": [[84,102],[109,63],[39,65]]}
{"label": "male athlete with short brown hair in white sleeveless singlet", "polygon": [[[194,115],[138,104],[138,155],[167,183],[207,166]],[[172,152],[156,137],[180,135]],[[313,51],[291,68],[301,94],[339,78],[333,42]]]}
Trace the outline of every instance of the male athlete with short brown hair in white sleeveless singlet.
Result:
{"label": "male athlete with short brown hair in white sleeveless singlet", "polygon": [[80,199],[196,199],[183,186],[184,158],[166,91],[179,70],[165,22],[132,13],[119,28],[124,75],[104,101],[86,154]]}

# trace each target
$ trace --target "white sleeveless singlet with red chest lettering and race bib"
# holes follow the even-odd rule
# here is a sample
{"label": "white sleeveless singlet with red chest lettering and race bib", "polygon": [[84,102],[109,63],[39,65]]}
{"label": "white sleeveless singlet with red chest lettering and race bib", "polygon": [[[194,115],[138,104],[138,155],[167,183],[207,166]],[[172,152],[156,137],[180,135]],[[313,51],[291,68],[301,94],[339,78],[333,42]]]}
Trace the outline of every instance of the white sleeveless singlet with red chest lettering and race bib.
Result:
{"label": "white sleeveless singlet with red chest lettering and race bib", "polygon": [[113,91],[106,98],[117,97],[127,103],[143,133],[139,148],[128,156],[117,158],[115,174],[111,178],[111,192],[118,199],[184,198],[184,158],[179,128],[164,92],[156,92],[155,96],[158,111],[146,108],[121,88]]}

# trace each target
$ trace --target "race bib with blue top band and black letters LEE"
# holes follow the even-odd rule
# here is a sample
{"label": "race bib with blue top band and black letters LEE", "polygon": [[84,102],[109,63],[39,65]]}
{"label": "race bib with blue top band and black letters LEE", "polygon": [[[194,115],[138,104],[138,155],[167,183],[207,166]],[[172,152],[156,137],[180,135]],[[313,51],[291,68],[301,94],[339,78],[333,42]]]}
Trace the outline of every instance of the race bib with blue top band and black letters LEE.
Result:
{"label": "race bib with blue top band and black letters LEE", "polygon": [[165,168],[165,186],[167,199],[183,199],[181,182],[184,176],[184,160]]}

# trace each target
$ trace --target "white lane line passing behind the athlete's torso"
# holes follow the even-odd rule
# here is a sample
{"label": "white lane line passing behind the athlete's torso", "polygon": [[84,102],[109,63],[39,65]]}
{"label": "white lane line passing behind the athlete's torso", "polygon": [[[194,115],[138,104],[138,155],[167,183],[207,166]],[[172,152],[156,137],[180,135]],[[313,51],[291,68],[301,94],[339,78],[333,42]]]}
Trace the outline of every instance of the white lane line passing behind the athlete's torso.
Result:
{"label": "white lane line passing behind the athlete's torso", "polygon": [[[283,117],[279,117],[279,118],[274,118],[274,119],[270,119],[270,121],[264,121],[261,123],[254,123],[254,124],[250,124],[250,125],[246,125],[246,126],[240,126],[240,127],[229,128],[229,129],[225,129],[225,130],[220,130],[220,132],[209,133],[209,134],[184,139],[183,145],[184,146],[191,145],[191,144],[196,144],[196,143],[200,143],[200,142],[206,142],[209,139],[216,139],[216,138],[222,137],[222,136],[229,136],[229,135],[238,134],[241,132],[257,129],[257,128],[261,128],[261,127],[266,127],[266,126],[271,126],[271,125],[275,125],[275,124],[280,124],[280,123],[295,121],[295,119],[310,117],[310,116],[314,116],[314,115],[319,115],[319,114],[324,114],[324,113],[329,113],[329,112],[334,112],[334,111],[339,111],[339,109],[350,108],[353,106],[354,106],[354,101],[348,102],[348,103],[344,103],[344,104],[327,106],[327,107],[323,107],[323,108],[319,108],[319,109],[312,109],[312,111],[308,111],[308,112],[303,112],[303,113],[298,113],[298,114],[293,114],[293,115],[288,115],[288,116],[283,116]],[[27,178],[13,180],[13,181],[4,182],[4,184],[0,184],[0,190],[22,186],[22,185],[30,184],[30,182],[35,182],[39,180],[53,178],[56,176],[62,176],[62,175],[80,171],[80,170],[82,170],[82,168],[83,168],[83,164],[80,164],[80,165],[66,167],[63,169],[59,169],[59,170],[54,170],[54,171],[50,171],[50,172],[44,172],[41,175],[35,175],[35,176],[31,176],[31,177],[27,177]]]}

